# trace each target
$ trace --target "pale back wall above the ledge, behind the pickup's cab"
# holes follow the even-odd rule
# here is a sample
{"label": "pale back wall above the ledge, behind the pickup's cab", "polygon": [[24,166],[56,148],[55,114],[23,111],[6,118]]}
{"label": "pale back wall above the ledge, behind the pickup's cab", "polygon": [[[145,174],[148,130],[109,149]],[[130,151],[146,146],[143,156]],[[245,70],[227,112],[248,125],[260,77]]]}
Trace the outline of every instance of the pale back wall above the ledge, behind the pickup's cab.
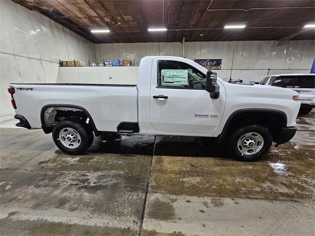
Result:
{"label": "pale back wall above the ledge, behind the pickup's cab", "polygon": [[[281,44],[278,46],[278,44]],[[184,57],[222,59],[221,79],[230,78],[235,49],[232,79],[260,81],[266,75],[279,73],[310,73],[315,56],[314,40],[292,41],[221,41],[186,42]],[[147,55],[182,56],[182,43],[107,43],[95,44],[97,61],[131,60],[139,65]]]}

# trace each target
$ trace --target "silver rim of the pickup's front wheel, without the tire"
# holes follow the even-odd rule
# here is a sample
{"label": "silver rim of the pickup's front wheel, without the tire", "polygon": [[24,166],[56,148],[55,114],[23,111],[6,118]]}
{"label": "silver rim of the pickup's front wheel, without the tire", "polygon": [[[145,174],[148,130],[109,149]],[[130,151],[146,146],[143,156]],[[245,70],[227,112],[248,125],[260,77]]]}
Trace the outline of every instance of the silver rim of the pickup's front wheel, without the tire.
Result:
{"label": "silver rim of the pickup's front wheel, without the tire", "polygon": [[244,134],[237,142],[238,150],[246,155],[257,153],[263,146],[263,137],[255,132]]}

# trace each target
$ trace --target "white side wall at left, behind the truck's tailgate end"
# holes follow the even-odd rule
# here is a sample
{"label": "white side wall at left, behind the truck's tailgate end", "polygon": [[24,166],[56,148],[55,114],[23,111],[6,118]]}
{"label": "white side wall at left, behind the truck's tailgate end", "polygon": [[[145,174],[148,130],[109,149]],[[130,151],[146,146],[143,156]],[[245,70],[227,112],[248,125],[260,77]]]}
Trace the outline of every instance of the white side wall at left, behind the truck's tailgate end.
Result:
{"label": "white side wall at left, behind the truck's tailgate end", "polygon": [[0,30],[0,120],[14,113],[8,84],[56,83],[60,59],[95,60],[93,43],[9,0],[0,0]]}

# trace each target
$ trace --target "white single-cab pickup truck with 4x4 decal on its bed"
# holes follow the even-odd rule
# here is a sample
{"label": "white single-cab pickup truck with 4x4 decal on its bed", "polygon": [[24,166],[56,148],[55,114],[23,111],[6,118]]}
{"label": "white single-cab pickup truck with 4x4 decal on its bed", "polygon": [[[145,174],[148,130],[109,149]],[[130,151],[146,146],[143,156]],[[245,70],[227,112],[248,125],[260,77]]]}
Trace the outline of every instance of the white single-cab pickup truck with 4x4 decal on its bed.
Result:
{"label": "white single-cab pickup truck with 4x4 decal on its bed", "polygon": [[295,91],[239,85],[185,58],[141,60],[136,85],[10,84],[17,126],[52,132],[58,148],[80,154],[102,131],[217,137],[253,160],[296,132]]}

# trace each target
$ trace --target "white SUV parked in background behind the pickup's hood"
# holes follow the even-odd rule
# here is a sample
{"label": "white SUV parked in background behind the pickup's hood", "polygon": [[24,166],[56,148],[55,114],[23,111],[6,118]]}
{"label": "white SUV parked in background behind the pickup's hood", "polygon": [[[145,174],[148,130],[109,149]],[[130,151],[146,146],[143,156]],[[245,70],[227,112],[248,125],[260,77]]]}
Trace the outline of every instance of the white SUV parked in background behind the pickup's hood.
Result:
{"label": "white SUV parked in background behind the pickup's hood", "polygon": [[315,107],[315,74],[280,74],[269,75],[260,85],[291,89],[299,93],[300,113],[307,114]]}

